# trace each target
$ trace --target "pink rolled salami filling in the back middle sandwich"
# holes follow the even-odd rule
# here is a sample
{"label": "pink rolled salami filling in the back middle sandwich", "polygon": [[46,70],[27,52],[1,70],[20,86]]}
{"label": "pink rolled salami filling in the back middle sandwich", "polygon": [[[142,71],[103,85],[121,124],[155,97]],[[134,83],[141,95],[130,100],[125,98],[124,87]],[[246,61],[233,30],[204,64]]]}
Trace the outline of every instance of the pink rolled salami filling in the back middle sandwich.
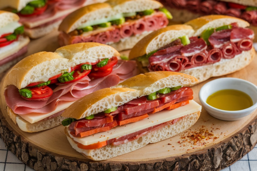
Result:
{"label": "pink rolled salami filling in the back middle sandwich", "polygon": [[[129,19],[122,25],[111,26],[105,28],[107,31],[94,30],[91,34],[78,35],[77,31],[66,34],[61,32],[59,35],[59,43],[61,46],[68,44],[75,44],[81,42],[97,42],[97,43],[117,43],[121,39],[143,34],[166,27],[168,19],[162,12],[155,12],[152,15],[141,17],[140,19]],[[100,33],[99,33],[100,32]],[[74,35],[75,34],[75,35]]]}

